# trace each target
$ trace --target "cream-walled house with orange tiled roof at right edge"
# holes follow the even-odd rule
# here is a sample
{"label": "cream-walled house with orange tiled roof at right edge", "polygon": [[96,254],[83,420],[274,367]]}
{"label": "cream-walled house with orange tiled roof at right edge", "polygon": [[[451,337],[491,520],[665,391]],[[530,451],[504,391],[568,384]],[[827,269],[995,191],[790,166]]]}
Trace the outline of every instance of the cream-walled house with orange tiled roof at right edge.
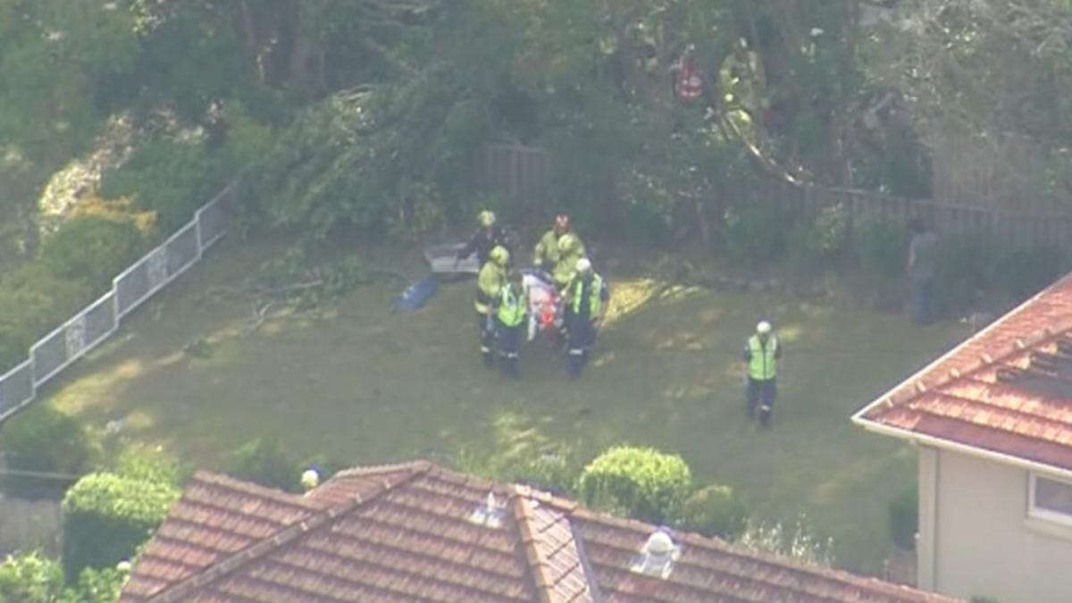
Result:
{"label": "cream-walled house with orange tiled roof at right edge", "polygon": [[920,588],[1072,601],[1072,275],[852,421],[919,448]]}

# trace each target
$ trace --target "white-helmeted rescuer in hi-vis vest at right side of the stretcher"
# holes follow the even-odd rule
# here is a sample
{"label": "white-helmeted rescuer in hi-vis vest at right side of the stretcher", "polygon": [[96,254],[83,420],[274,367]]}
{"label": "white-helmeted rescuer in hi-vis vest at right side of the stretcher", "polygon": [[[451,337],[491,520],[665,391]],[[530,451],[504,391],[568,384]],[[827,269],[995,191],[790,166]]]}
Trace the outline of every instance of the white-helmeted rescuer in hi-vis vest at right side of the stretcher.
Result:
{"label": "white-helmeted rescuer in hi-vis vest at right side of the stretcher", "polygon": [[577,261],[576,271],[566,293],[566,370],[570,379],[577,379],[587,363],[596,341],[596,327],[610,299],[607,283],[592,269],[587,258]]}

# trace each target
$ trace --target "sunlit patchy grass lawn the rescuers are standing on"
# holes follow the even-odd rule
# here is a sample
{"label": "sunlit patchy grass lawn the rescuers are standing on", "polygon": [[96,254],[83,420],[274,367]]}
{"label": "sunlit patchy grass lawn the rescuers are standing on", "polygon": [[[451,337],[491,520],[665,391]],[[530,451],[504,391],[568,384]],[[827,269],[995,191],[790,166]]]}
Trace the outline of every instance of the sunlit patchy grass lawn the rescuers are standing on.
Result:
{"label": "sunlit patchy grass lawn the rescuers are standing on", "polygon": [[[479,365],[468,281],[416,313],[389,310],[398,288],[353,291],[317,315],[247,333],[249,303],[205,292],[276,252],[225,241],[50,388],[51,403],[221,468],[277,435],[296,455],[353,464],[440,461],[521,444],[567,443],[591,458],[616,443],[680,453],[699,481],[729,484],[762,519],[800,513],[833,536],[837,564],[878,573],[892,547],[887,505],[914,479],[915,455],[849,415],[965,335],[898,315],[835,310],[770,293],[716,293],[608,275],[612,320],[577,382],[541,342],[520,383]],[[375,260],[373,260],[375,261]],[[406,265],[420,274],[413,260]],[[775,426],[744,415],[740,351],[760,315],[785,348]],[[184,353],[196,342],[197,354]]]}

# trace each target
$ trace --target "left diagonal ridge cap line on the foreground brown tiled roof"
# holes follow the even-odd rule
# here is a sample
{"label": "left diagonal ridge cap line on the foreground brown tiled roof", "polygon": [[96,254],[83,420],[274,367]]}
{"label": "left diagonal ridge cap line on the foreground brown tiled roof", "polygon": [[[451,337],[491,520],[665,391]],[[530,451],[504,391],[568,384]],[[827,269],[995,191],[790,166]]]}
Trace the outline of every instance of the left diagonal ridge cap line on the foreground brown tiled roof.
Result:
{"label": "left diagonal ridge cap line on the foreground brown tiled roof", "polygon": [[300,519],[298,521],[289,524],[280,529],[279,531],[277,531],[276,533],[269,536],[265,536],[245,546],[241,550],[238,550],[229,555],[222,561],[212,563],[205,570],[196,574],[193,574],[191,576],[188,576],[185,579],[177,584],[165,587],[163,590],[157,592],[155,594],[147,599],[147,603],[158,603],[158,602],[170,603],[174,601],[181,601],[185,599],[188,594],[190,594],[191,590],[204,587],[228,574],[234,573],[239,568],[250,563],[251,561],[260,559],[262,557],[268,555],[269,553],[294,542],[302,534],[306,534],[312,530],[315,530],[326,525],[331,519],[334,519],[340,515],[354,511],[358,506],[361,506],[364,503],[370,502],[371,500],[379,497],[379,495],[384,494],[385,491],[398,486],[399,484],[405,481],[416,477],[420,473],[421,471],[414,471],[411,474],[404,476],[403,479],[394,482],[384,480],[382,482],[376,483],[377,488],[366,496],[354,495],[354,497],[351,500],[347,500],[346,502],[343,502],[334,506],[329,506],[327,509],[322,508],[322,510],[318,511],[317,513],[314,513],[306,517],[304,519]]}

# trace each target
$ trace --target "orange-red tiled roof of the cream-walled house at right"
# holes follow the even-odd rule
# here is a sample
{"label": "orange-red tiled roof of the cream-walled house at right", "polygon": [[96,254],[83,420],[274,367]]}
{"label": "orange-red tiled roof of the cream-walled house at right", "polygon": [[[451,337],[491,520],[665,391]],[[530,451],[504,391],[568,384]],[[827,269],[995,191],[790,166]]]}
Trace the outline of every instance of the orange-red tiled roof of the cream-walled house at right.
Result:
{"label": "orange-red tiled roof of the cream-walled house at right", "polygon": [[1072,275],[853,418],[1072,470]]}

